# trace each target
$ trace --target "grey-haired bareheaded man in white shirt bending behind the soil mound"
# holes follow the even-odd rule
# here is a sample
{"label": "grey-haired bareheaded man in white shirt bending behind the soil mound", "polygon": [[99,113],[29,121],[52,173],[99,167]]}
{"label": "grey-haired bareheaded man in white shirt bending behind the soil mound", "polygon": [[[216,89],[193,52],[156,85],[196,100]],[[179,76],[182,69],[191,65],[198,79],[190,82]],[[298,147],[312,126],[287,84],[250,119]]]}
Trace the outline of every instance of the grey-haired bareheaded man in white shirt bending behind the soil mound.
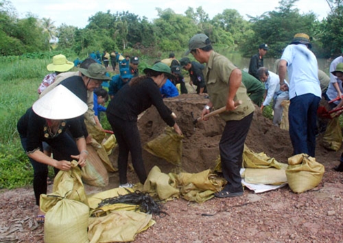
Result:
{"label": "grey-haired bareheaded man in white shirt bending behind the soil mound", "polygon": [[[263,110],[263,107],[269,105],[270,101],[273,100],[273,124],[279,126],[283,114],[283,106],[281,103],[282,101],[289,99],[288,91],[280,90],[279,75],[268,71],[268,68],[262,66],[257,70],[257,75],[259,75],[259,79],[264,83],[265,86],[265,99],[261,105],[261,111]],[[287,84],[286,81],[285,83]]]}

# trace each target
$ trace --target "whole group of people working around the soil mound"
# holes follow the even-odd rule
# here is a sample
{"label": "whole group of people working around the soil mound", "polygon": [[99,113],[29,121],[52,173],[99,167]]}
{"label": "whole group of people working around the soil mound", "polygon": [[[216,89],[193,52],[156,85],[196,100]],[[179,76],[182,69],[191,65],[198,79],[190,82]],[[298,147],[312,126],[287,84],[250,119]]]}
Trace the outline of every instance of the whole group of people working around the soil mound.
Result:
{"label": "whole group of people working around the soil mound", "polygon": [[[40,99],[18,122],[23,148],[34,167],[36,204],[39,205],[40,194],[47,192],[48,165],[54,166],[56,172],[69,170],[72,159],[78,160],[79,166],[86,166],[88,155],[86,143],[90,135],[85,120],[93,119],[92,122],[96,125],[93,92],[108,80],[110,80],[108,87],[110,102],[106,107],[106,116],[119,145],[120,187],[132,187],[126,177],[129,153],[139,181],[144,183],[147,178],[137,126],[139,114],[154,105],[165,123],[182,136],[182,131],[172,115],[173,112],[165,105],[161,95],[161,88],[167,80],[173,85],[180,84],[181,92],[187,93],[185,80],[181,75],[182,68],[189,72],[190,84],[197,86],[198,94],[203,92],[209,94],[209,102],[201,113],[202,119],[213,108],[226,107],[226,111],[220,114],[226,125],[219,149],[222,172],[228,183],[222,191],[216,192],[215,196],[224,198],[240,196],[244,193],[239,170],[244,142],[255,111],[253,102],[262,110],[265,105],[270,104],[271,99],[274,99],[273,123],[278,125],[282,114],[282,112],[278,113],[280,101],[289,97],[289,136],[294,155],[306,153],[314,157],[316,112],[322,92],[316,56],[309,50],[310,48],[309,36],[296,34],[281,56],[279,75],[263,67],[263,60],[261,62],[260,57],[268,51],[266,44],[260,46],[264,54],[252,58],[255,64],[250,66],[257,68],[257,72],[249,71],[250,75],[237,68],[224,55],[215,52],[211,40],[205,34],[196,34],[189,40],[186,54],[191,53],[197,62],[191,61],[188,57],[182,57],[178,61],[171,53],[169,60],[162,60],[149,68],[144,68],[144,74],[141,76],[137,68],[139,57],[136,56],[120,60],[119,74],[110,78],[106,74],[106,64],[105,67],[102,66],[93,57],[84,60],[78,71],[68,72],[73,68],[73,62],[69,62],[64,55],[57,55],[53,58],[53,64],[47,66],[47,69],[54,73],[47,75],[38,88]],[[115,55],[117,58],[117,53]],[[109,56],[112,56],[112,53]],[[285,81],[286,73],[288,73],[289,84]],[[343,57],[332,74],[335,75],[336,82],[343,80]],[[250,88],[250,77],[253,78],[252,83],[256,79],[260,84],[261,82],[265,84],[263,103],[261,88],[259,88],[263,85],[251,85]],[[342,88],[342,84],[339,85],[339,88]],[[253,89],[259,90],[259,99],[253,99],[252,94],[256,93],[251,91]],[[105,100],[105,93],[97,92],[95,95],[99,103],[101,103],[99,98]],[[338,91],[338,96],[342,96],[342,90]],[[341,103],[343,105],[343,102],[339,101],[339,104]],[[50,156],[47,148],[50,149],[53,157]],[[343,159],[341,161],[343,163]],[[343,170],[342,164],[338,170],[341,167]],[[44,218],[40,210],[37,218],[40,220]]]}

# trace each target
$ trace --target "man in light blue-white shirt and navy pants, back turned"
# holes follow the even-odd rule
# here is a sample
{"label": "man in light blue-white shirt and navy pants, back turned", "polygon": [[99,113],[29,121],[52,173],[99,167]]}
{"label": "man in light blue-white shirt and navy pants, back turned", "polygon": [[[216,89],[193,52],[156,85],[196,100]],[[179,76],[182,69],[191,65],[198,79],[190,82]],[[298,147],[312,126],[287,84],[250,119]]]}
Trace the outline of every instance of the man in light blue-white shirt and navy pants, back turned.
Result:
{"label": "man in light blue-white shirt and navy pants, back turned", "polygon": [[318,79],[318,62],[309,49],[307,34],[296,34],[285,48],[279,64],[281,90],[285,90],[285,75],[289,77],[289,136],[293,153],[315,157],[317,110],[322,92]]}

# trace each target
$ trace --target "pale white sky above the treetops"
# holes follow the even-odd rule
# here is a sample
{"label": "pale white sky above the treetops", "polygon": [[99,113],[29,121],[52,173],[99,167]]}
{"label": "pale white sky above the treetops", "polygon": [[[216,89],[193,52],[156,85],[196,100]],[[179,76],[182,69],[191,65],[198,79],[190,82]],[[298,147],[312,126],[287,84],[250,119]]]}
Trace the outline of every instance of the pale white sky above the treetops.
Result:
{"label": "pale white sky above the treetops", "polygon": [[[273,11],[279,6],[279,0],[10,0],[18,12],[19,18],[25,18],[28,12],[38,18],[51,18],[56,27],[62,23],[84,28],[88,18],[96,12],[111,13],[128,11],[139,17],[147,17],[149,21],[158,18],[156,8],[165,10],[171,8],[176,14],[185,15],[187,8],[194,11],[202,6],[204,12],[213,18],[225,9],[235,9],[246,20],[247,15],[260,16],[264,12]],[[321,21],[330,12],[326,0],[298,0],[296,8],[300,14],[310,11],[317,14]]]}

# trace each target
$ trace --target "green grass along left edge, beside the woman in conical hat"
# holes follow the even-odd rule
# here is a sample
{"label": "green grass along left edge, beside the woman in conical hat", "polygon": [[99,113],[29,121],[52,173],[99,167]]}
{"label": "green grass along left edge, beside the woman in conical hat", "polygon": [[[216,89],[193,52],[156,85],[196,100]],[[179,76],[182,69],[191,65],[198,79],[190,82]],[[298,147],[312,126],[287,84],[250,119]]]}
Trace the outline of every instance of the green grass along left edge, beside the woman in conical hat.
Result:
{"label": "green grass along left edge, beside the woman in conical hat", "polygon": [[0,73],[0,188],[32,183],[33,170],[16,131],[16,123],[38,98],[37,88],[49,60],[1,63]]}

